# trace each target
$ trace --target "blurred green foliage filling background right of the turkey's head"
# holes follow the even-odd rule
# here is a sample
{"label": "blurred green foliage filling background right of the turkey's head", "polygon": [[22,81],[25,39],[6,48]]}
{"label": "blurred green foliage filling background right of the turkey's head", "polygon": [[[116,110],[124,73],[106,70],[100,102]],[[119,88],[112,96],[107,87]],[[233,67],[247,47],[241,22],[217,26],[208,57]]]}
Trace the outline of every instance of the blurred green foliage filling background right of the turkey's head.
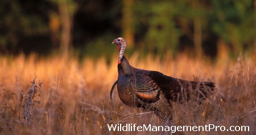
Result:
{"label": "blurred green foliage filling background right of the turkey's head", "polygon": [[[251,0],[140,1],[135,3],[134,15],[136,33],[144,33],[139,38],[143,39],[143,50],[157,54],[170,49],[177,52],[178,46],[187,46],[181,44],[181,37],[193,42],[197,34],[195,19],[200,19],[202,42],[213,42],[216,39],[210,35],[215,35],[232,45],[236,55],[252,50],[255,42],[255,10]],[[144,27],[146,30],[140,29]]]}

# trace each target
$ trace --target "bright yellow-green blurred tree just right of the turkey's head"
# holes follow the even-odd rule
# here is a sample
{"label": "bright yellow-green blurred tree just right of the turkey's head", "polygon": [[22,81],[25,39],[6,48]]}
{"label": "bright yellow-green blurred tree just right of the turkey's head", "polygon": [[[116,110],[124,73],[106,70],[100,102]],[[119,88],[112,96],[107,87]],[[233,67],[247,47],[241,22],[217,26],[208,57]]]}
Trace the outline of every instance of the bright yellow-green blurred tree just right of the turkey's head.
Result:
{"label": "bright yellow-green blurred tree just right of the turkey's head", "polygon": [[174,22],[178,7],[170,1],[140,1],[136,5],[136,29],[146,26],[143,31],[144,49],[157,54],[170,49],[174,52],[181,34]]}

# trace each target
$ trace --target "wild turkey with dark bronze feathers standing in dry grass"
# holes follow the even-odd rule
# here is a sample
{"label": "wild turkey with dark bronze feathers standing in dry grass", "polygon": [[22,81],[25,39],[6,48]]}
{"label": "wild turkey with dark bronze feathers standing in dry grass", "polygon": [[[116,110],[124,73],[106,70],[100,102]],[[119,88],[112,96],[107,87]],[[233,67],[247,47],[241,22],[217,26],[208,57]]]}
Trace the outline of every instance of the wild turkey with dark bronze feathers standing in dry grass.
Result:
{"label": "wild turkey with dark bronze feathers standing in dry grass", "polygon": [[[191,95],[197,96],[199,104],[214,90],[214,82],[186,81],[163,75],[157,71],[147,71],[132,67],[123,53],[126,41],[119,37],[112,43],[119,51],[118,79],[110,91],[117,85],[119,98],[127,106],[143,107],[154,111],[163,120],[172,119],[171,102],[188,101]],[[171,102],[170,102],[171,101]]]}

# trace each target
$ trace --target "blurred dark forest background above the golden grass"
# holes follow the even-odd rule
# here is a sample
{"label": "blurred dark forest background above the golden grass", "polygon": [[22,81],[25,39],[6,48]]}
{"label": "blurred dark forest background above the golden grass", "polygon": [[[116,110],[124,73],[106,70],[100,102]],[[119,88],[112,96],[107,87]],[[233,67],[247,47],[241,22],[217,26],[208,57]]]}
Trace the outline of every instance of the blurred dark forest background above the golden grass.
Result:
{"label": "blurred dark forest background above the golden grass", "polygon": [[0,53],[112,56],[114,38],[127,53],[216,58],[256,50],[254,0],[1,0]]}

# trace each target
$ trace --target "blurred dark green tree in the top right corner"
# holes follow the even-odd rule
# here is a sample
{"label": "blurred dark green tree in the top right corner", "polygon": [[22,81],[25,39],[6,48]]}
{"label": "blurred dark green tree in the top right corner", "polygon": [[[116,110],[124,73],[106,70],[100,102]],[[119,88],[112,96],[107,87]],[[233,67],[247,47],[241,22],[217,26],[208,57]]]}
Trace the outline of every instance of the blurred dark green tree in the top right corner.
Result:
{"label": "blurred dark green tree in the top right corner", "polygon": [[235,55],[252,50],[256,38],[253,1],[212,1],[212,6],[213,32],[232,45]]}

